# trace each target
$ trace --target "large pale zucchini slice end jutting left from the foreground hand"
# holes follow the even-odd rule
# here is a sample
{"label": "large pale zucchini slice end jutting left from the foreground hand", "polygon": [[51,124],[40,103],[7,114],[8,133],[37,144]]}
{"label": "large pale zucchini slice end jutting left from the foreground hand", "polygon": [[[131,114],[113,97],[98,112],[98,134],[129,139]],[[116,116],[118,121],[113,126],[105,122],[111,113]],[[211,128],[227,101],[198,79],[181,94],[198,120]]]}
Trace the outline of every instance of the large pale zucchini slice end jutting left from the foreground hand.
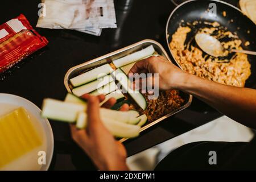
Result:
{"label": "large pale zucchini slice end jutting left from the foreground hand", "polygon": [[86,105],[47,98],[43,101],[42,117],[57,121],[76,122],[77,114],[85,110]]}

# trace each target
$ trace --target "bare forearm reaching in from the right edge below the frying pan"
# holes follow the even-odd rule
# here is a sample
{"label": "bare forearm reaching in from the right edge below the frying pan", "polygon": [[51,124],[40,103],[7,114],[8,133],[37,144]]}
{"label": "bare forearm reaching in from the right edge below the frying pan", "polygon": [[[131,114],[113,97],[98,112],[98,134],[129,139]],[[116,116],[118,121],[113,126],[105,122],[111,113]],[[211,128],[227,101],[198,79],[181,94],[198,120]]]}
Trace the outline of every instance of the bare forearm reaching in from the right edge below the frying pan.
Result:
{"label": "bare forearm reaching in from the right edge below the frying pan", "polygon": [[177,85],[221,113],[256,129],[256,90],[218,84],[184,73]]}

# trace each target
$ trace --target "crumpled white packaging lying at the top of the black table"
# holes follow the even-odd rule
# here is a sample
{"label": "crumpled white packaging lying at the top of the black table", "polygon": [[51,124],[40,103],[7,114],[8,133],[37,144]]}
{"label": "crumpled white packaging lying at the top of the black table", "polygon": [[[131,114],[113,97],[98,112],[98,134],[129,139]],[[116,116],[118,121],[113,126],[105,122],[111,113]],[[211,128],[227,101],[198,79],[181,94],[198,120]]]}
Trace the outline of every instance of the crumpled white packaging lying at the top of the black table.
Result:
{"label": "crumpled white packaging lying at the top of the black table", "polygon": [[[36,27],[71,29],[100,35],[101,28],[116,28],[113,0],[42,0],[46,14]],[[43,11],[42,11],[43,12]]]}

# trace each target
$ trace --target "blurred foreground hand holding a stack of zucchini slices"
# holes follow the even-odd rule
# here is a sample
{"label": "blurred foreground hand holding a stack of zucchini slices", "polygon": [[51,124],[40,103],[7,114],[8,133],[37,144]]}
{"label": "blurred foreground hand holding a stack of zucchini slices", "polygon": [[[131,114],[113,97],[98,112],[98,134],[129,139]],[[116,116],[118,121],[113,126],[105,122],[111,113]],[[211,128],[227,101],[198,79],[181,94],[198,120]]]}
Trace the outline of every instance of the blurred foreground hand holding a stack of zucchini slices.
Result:
{"label": "blurred foreground hand holding a stack of zucchini slices", "polygon": [[[86,152],[98,169],[128,170],[125,147],[115,140],[100,118],[100,102],[104,101],[105,96],[85,94],[82,98],[88,101],[88,126],[86,130],[79,130],[75,125],[70,125],[73,140]],[[103,107],[110,108],[115,102],[114,98],[110,98]],[[129,105],[123,105],[120,110],[129,110]]]}

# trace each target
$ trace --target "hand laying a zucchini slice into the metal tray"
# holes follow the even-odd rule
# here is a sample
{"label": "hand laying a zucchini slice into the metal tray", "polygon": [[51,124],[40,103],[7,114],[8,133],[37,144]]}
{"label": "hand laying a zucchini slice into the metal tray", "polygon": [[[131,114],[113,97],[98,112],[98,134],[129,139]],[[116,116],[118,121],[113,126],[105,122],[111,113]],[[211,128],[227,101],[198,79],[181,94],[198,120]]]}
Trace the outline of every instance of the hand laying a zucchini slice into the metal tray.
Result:
{"label": "hand laying a zucchini slice into the metal tray", "polygon": [[163,56],[151,56],[134,64],[130,73],[159,73],[159,89],[179,89],[181,82],[185,80],[185,73]]}

